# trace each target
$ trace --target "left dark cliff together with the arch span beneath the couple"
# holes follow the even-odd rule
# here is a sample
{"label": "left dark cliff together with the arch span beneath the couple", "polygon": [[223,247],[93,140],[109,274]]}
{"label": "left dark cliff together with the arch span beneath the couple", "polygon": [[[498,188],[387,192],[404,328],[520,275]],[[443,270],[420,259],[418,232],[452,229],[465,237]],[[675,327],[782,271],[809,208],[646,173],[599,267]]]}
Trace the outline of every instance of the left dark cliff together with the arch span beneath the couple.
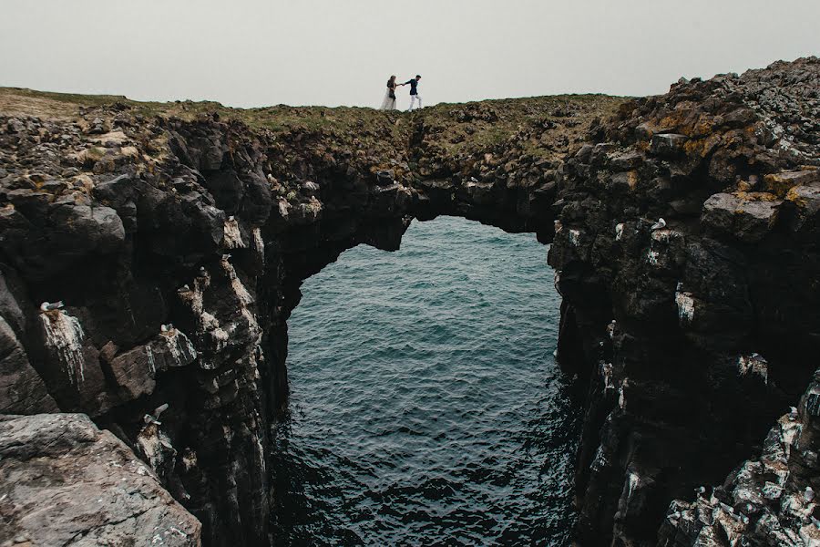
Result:
{"label": "left dark cliff together with the arch span beneath the couple", "polygon": [[149,119],[144,105],[62,99],[7,91],[10,113],[40,116],[0,119],[0,404],[87,413],[149,462],[210,544],[267,542],[268,432],[302,280],[358,243],[396,249],[414,216],[548,239],[547,168],[622,102],[410,119],[182,105]]}

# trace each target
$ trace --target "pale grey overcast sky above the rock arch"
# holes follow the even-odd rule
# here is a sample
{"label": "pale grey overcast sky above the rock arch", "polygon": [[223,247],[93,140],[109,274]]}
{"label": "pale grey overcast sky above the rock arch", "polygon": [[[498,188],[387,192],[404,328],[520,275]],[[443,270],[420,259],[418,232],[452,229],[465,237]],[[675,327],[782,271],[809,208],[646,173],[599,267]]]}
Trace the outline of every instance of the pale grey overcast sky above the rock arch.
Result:
{"label": "pale grey overcast sky above the rock arch", "polygon": [[428,104],[649,95],[820,55],[818,24],[818,0],[0,0],[0,86],[375,107],[420,73]]}

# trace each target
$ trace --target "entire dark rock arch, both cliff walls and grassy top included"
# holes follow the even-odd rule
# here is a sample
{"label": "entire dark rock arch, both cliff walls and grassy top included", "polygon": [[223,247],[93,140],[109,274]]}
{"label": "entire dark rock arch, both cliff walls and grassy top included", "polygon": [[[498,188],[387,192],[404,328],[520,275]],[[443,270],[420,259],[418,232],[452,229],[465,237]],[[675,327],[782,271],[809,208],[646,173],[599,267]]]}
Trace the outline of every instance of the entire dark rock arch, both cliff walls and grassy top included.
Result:
{"label": "entire dark rock arch, both cliff walls and grassy top included", "polygon": [[0,408],[87,413],[206,543],[264,544],[302,280],[466,216],[555,237],[559,358],[589,386],[579,539],[650,544],[816,365],[818,73],[412,116],[4,90]]}

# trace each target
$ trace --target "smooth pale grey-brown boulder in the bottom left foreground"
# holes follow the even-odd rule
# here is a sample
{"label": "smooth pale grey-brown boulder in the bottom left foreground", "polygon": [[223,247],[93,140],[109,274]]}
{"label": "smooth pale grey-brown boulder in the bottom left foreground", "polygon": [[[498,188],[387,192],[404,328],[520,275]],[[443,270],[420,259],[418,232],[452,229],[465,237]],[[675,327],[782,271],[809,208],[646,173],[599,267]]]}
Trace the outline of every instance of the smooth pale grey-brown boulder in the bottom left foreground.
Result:
{"label": "smooth pale grey-brown boulder in the bottom left foreground", "polygon": [[0,418],[3,545],[200,545],[144,462],[77,414]]}

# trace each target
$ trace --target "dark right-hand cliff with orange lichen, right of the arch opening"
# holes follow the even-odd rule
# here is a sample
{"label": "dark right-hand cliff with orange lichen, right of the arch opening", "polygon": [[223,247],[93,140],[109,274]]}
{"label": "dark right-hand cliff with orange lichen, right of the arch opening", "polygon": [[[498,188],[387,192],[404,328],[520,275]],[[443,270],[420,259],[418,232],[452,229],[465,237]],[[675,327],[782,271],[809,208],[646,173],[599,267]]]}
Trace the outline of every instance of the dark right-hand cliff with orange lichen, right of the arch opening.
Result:
{"label": "dark right-hand cliff with orange lichen, right of the arch opening", "polygon": [[809,382],[818,89],[816,58],[682,81],[566,161],[549,263],[559,359],[589,380],[582,541],[653,544],[669,501],[756,453]]}

